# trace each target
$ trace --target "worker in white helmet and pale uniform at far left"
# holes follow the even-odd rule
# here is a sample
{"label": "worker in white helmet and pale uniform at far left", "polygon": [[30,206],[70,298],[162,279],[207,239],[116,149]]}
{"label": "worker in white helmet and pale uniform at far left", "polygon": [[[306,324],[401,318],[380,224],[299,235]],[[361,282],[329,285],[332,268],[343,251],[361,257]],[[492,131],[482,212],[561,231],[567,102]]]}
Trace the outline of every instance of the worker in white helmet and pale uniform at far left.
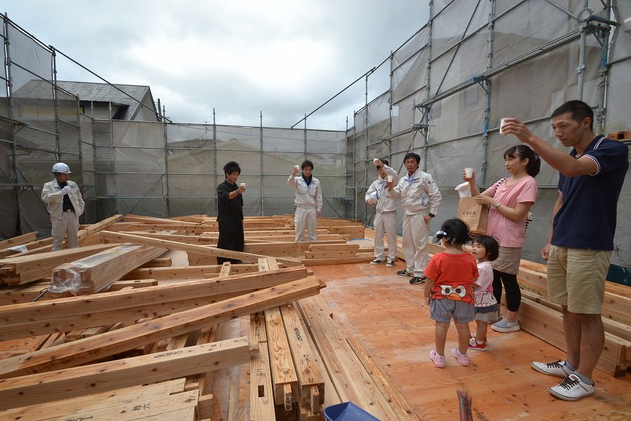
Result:
{"label": "worker in white helmet and pale uniform at far left", "polygon": [[83,214],[86,203],[83,202],[79,186],[70,177],[70,167],[63,162],[53,165],[55,180],[47,182],[41,190],[41,199],[48,206],[52,224],[53,251],[61,250],[64,237],[67,236],[68,248],[79,246],[79,216]]}

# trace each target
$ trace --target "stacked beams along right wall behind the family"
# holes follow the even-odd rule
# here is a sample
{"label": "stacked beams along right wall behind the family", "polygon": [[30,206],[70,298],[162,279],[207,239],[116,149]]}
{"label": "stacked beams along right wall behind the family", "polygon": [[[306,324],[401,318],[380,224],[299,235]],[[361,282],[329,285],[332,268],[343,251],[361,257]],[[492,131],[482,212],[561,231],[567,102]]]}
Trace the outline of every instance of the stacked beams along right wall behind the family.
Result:
{"label": "stacked beams along right wall behind the family", "polygon": [[[466,247],[465,247],[466,248]],[[445,248],[432,243],[430,253]],[[520,327],[566,351],[565,330],[561,306],[547,300],[546,267],[522,260],[517,282],[522,289]],[[614,377],[623,376],[631,367],[631,288],[606,281],[602,308],[605,344],[596,368]],[[506,300],[503,300],[503,305]]]}

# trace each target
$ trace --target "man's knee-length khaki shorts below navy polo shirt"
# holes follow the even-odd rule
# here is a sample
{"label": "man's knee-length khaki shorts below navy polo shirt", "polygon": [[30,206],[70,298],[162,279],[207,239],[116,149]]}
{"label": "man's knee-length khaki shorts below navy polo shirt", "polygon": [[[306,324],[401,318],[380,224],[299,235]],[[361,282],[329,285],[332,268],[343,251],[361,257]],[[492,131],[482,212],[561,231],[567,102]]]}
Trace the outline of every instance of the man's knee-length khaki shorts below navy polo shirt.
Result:
{"label": "man's knee-length khaki shorts below navy polo shirt", "polygon": [[550,246],[548,300],[577,314],[601,314],[611,250]]}

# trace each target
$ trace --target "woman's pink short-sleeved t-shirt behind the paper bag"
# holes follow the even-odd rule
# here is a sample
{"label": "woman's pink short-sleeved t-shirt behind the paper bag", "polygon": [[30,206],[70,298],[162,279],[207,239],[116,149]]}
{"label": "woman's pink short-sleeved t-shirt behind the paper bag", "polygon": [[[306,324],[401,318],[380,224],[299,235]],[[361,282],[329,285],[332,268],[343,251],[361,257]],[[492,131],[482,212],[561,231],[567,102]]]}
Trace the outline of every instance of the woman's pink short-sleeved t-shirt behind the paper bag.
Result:
{"label": "woman's pink short-sleeved t-shirt behind the paper bag", "polygon": [[[488,191],[491,197],[502,203],[503,206],[513,209],[517,207],[517,203],[535,203],[539,187],[534,178],[527,175],[509,187],[506,184],[510,180],[509,178],[500,185],[495,183],[489,187]],[[524,215],[522,220],[516,222],[506,218],[496,208],[491,207],[487,235],[495,237],[502,247],[523,247],[526,239],[526,219],[527,215]]]}

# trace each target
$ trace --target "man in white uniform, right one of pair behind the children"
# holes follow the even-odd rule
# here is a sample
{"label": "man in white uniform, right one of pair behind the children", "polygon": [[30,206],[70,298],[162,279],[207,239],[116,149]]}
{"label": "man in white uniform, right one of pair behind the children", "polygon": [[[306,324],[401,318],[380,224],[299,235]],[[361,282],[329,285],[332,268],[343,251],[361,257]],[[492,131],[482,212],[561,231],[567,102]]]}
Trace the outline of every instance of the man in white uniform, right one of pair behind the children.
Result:
{"label": "man in white uniform, right one of pair behind the children", "polygon": [[419,169],[421,156],[409,152],[403,158],[407,175],[400,178],[390,192],[393,199],[401,198],[403,216],[403,252],[407,267],[397,272],[412,276],[409,283],[423,283],[425,267],[429,262],[427,244],[428,224],[438,212],[442,194],[432,176]]}

